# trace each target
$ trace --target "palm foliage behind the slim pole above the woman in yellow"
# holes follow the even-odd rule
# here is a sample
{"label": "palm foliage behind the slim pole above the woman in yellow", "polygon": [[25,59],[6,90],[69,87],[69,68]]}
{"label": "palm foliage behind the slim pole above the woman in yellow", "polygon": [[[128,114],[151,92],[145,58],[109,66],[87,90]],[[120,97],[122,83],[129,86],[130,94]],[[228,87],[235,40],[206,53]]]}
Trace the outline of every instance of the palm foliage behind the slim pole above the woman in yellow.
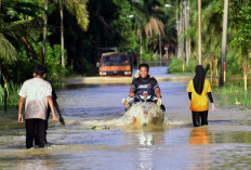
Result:
{"label": "palm foliage behind the slim pole above the woman in yellow", "polygon": [[[212,1],[211,3],[203,4],[202,8],[202,64],[211,65],[211,76],[219,74],[219,61],[221,47],[221,35],[222,35],[222,11],[221,2]],[[198,49],[198,13],[197,2],[190,1],[190,27],[183,32],[183,36],[187,35],[193,41],[194,56],[197,56]],[[197,56],[198,57],[198,56]]]}

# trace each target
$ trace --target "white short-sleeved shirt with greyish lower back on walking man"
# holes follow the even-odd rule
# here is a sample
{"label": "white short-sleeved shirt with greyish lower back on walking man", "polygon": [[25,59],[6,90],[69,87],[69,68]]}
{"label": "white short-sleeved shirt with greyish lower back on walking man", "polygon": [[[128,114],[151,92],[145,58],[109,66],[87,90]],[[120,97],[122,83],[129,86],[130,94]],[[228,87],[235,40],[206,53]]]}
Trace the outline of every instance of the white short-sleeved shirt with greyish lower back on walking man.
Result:
{"label": "white short-sleeved shirt with greyish lower back on walking man", "polygon": [[26,80],[21,88],[19,96],[26,97],[25,119],[47,120],[48,99],[52,95],[51,83],[42,78]]}

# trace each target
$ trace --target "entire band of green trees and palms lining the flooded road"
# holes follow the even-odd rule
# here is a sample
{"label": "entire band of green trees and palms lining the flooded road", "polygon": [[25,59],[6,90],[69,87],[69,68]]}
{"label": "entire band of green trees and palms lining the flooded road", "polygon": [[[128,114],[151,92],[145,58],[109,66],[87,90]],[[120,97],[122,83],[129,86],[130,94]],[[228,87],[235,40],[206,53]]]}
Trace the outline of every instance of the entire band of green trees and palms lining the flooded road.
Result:
{"label": "entire band of green trees and palms lining the flooded road", "polygon": [[[215,77],[221,69],[224,0],[201,2],[202,65]],[[251,2],[229,1],[229,75],[241,75],[243,63],[250,62],[250,23]],[[8,100],[15,101],[17,87],[41,63],[49,68],[50,81],[97,75],[98,49],[106,47],[130,47],[145,62],[171,58],[169,73],[193,74],[198,58],[197,1],[0,0],[0,99],[8,93]]]}

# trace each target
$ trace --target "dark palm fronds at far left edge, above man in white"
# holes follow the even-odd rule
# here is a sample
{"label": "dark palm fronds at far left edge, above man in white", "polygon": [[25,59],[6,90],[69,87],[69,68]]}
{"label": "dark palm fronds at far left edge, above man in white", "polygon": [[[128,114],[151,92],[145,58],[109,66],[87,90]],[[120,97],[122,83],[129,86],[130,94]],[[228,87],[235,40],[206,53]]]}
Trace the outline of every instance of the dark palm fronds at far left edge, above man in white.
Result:
{"label": "dark palm fronds at far left edge, above man in white", "polygon": [[13,65],[17,61],[22,48],[32,51],[28,41],[41,32],[36,18],[19,21],[15,15],[23,13],[35,16],[34,9],[35,5],[16,0],[0,1],[0,79],[4,80],[4,83],[1,83],[4,90],[4,106],[6,106],[8,87],[10,87],[8,65]]}

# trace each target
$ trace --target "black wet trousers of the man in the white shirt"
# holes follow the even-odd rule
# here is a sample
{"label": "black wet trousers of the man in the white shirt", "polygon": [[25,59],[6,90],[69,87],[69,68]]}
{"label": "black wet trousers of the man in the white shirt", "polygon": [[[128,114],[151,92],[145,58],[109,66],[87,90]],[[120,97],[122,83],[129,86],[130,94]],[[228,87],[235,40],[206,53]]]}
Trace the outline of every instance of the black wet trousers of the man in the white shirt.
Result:
{"label": "black wet trousers of the man in the white shirt", "polygon": [[26,125],[26,147],[34,146],[34,140],[39,147],[44,147],[45,120],[43,119],[25,119]]}

